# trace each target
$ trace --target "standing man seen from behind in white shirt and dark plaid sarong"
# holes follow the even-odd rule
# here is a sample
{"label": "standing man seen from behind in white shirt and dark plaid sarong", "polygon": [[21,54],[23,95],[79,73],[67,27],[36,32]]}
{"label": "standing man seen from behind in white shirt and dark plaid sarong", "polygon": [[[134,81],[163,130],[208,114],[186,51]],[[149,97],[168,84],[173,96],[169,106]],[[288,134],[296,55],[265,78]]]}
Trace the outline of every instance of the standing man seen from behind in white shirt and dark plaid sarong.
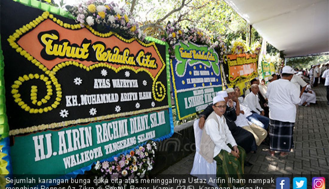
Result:
{"label": "standing man seen from behind in white shirt and dark plaid sarong", "polygon": [[290,82],[294,70],[282,69],[282,79],[271,82],[266,97],[269,106],[269,137],[271,156],[279,151],[280,157],[288,156],[293,148],[293,127],[296,119],[296,104],[300,102],[298,88]]}

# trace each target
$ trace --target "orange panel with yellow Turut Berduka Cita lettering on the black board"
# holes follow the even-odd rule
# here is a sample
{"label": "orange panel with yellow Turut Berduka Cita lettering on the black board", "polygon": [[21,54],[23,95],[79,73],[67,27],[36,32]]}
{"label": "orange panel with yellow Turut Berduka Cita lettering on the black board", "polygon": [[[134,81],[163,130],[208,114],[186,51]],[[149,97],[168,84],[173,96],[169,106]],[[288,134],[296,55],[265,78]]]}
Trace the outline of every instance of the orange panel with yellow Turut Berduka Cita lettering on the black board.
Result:
{"label": "orange panel with yellow Turut Berduka Cita lettering on the black board", "polygon": [[106,63],[114,68],[142,68],[153,78],[162,71],[164,60],[154,42],[119,37],[111,32],[108,37],[99,37],[87,28],[66,29],[47,19],[20,37],[17,44],[49,70],[64,61],[77,61],[87,67]]}

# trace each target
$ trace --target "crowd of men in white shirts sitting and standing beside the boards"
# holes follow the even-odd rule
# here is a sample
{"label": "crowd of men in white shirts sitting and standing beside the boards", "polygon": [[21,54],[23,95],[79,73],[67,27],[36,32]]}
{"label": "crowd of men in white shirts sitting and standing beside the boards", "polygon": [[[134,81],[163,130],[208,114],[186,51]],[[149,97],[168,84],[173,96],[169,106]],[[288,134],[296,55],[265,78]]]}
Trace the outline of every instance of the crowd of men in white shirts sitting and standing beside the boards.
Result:
{"label": "crowd of men in white shirts sitting and standing beside the boards", "polygon": [[[262,143],[269,146],[269,156],[276,156],[275,153],[281,158],[288,156],[294,147],[293,128],[298,106],[316,103],[311,87],[323,79],[329,100],[329,64],[322,66],[323,69],[316,68],[317,65],[310,71],[310,83],[306,82],[306,71],[300,73],[285,66],[281,75],[269,76],[267,84],[264,79],[261,82],[258,78],[252,79],[244,97],[239,87],[217,92],[213,104],[199,115],[198,127],[194,126],[195,130],[202,130],[195,157],[206,161],[205,165],[194,162],[191,175],[198,175],[196,166],[206,169],[216,166],[213,170],[217,176],[237,177],[243,174],[244,166],[252,165],[245,161],[246,154],[256,153]],[[322,73],[321,80],[318,73]],[[232,183],[218,186],[232,187]]]}

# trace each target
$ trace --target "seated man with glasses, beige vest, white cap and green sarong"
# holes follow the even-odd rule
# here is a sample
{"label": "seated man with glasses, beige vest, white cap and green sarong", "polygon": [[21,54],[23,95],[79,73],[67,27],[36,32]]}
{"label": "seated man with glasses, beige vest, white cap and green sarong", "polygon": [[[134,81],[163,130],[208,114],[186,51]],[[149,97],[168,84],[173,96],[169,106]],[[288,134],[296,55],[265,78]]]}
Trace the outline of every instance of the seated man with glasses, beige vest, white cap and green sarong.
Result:
{"label": "seated man with glasses, beige vest, white cap and green sarong", "polygon": [[[213,98],[214,111],[208,116],[200,141],[200,155],[209,163],[215,159],[217,177],[242,179],[243,164],[246,157],[243,148],[235,142],[224,117],[226,102],[222,96]],[[221,183],[219,187],[243,186],[243,183]]]}

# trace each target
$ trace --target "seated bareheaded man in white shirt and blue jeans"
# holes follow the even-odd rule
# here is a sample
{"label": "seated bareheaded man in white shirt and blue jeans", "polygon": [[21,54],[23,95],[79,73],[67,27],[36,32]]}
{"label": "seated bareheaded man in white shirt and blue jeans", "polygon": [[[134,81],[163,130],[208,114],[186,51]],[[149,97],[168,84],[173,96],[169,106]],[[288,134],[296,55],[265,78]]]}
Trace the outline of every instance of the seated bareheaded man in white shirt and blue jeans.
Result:
{"label": "seated bareheaded man in white shirt and blue jeans", "polygon": [[[273,81],[274,82],[274,81]],[[251,112],[252,115],[248,116],[247,119],[264,128],[267,130],[268,124],[269,124],[269,119],[264,116],[264,110],[261,107],[261,105],[258,102],[258,95],[257,93],[259,92],[259,88],[257,84],[252,84],[251,85],[251,93],[249,93],[245,98],[243,103],[247,105]]]}

